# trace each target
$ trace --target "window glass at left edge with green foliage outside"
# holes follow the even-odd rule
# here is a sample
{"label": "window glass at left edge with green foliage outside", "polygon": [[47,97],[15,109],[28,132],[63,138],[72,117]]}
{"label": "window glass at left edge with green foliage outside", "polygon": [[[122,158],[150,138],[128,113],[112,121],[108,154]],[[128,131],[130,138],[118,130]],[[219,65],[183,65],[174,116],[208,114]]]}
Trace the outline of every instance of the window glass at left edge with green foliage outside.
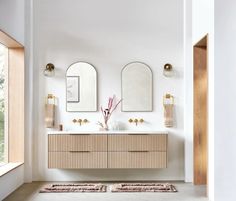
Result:
{"label": "window glass at left edge with green foliage outside", "polygon": [[0,44],[0,166],[8,162],[7,157],[7,56],[8,48]]}

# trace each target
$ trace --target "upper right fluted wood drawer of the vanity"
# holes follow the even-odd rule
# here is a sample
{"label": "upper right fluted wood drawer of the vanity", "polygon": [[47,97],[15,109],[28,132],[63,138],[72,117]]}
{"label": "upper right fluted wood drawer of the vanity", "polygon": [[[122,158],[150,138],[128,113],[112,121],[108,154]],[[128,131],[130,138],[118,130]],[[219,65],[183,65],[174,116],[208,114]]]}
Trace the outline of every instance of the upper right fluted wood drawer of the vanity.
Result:
{"label": "upper right fluted wood drawer of the vanity", "polygon": [[108,151],[166,151],[166,134],[108,135]]}

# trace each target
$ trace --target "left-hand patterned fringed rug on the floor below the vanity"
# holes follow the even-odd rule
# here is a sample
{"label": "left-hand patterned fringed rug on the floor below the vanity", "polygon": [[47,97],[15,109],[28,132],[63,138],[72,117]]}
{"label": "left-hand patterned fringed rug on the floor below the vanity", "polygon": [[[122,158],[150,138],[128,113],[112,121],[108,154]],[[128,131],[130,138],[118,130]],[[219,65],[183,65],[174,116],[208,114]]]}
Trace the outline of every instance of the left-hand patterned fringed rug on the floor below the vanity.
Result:
{"label": "left-hand patterned fringed rug on the floor below the vanity", "polygon": [[40,193],[103,193],[107,186],[95,183],[50,184],[44,186]]}

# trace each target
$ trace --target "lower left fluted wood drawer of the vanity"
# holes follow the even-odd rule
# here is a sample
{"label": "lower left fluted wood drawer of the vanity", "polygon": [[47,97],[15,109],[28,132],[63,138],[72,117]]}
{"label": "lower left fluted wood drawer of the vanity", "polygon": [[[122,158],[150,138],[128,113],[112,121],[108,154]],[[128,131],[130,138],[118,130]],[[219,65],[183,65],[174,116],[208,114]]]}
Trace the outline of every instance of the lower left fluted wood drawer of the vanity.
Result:
{"label": "lower left fluted wood drawer of the vanity", "polygon": [[48,168],[107,168],[107,152],[49,152]]}

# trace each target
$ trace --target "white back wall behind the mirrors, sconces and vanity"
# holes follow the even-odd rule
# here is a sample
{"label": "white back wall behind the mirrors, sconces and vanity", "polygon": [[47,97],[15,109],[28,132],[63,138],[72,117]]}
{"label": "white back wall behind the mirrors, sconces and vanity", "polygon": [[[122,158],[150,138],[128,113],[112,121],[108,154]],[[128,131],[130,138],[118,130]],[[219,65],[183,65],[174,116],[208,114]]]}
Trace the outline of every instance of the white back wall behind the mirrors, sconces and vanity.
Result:
{"label": "white back wall behind the mirrors, sconces and vanity", "polygon": [[[131,61],[151,66],[154,76],[154,110],[147,113],[114,114],[116,121],[136,130],[162,130],[162,96],[175,96],[176,125],[169,129],[169,166],[163,170],[49,170],[47,169],[47,130],[44,127],[45,96],[59,99],[57,122],[66,129],[96,128],[100,112],[65,111],[65,71],[75,61],[92,63],[98,71],[98,105],[108,96],[121,96],[120,73]],[[57,71],[53,78],[43,76],[49,62]],[[173,64],[176,76],[162,75],[163,65]],[[180,0],[37,0],[34,1],[34,180],[184,180],[184,85],[183,85],[183,1]],[[129,118],[148,123],[135,127]],[[87,118],[81,128],[72,119]]]}

